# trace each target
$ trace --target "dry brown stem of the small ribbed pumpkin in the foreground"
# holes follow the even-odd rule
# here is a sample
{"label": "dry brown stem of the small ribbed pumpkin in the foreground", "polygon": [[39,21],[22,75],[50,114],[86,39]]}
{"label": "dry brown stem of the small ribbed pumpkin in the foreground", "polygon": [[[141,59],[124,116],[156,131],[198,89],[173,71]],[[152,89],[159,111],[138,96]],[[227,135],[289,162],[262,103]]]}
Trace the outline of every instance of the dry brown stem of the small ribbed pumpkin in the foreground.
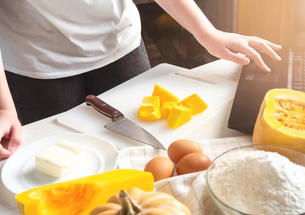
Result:
{"label": "dry brown stem of the small ribbed pumpkin in the foreground", "polygon": [[122,209],[119,211],[120,215],[137,215],[141,212],[141,206],[125,190],[120,191],[119,198],[122,202]]}

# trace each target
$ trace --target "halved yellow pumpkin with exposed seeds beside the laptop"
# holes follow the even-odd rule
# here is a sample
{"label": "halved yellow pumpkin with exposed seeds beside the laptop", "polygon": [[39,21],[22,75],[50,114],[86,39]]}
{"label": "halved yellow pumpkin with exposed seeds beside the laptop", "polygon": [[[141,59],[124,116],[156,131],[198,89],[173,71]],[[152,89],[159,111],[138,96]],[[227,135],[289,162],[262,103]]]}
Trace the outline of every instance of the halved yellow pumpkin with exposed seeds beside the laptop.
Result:
{"label": "halved yellow pumpkin with exposed seeds beside the laptop", "polygon": [[269,90],[256,119],[253,143],[282,145],[305,153],[305,93]]}

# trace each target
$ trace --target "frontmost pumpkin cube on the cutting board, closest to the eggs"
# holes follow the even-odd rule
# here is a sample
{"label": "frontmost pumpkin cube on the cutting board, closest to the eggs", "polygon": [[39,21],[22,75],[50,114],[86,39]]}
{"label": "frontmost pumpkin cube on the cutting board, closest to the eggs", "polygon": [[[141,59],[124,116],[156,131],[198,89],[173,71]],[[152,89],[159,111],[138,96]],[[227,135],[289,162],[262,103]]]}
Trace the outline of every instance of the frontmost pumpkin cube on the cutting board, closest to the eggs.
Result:
{"label": "frontmost pumpkin cube on the cutting board, closest to the eggs", "polygon": [[167,125],[173,129],[191,120],[191,109],[184,106],[173,106],[167,119]]}

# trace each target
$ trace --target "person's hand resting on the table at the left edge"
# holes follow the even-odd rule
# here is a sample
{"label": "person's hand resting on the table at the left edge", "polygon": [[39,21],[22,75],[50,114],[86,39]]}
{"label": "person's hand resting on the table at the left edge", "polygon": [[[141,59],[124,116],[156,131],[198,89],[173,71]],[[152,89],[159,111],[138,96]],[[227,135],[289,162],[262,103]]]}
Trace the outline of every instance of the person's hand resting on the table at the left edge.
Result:
{"label": "person's hand resting on the table at the left edge", "polygon": [[21,144],[22,128],[15,110],[0,109],[0,140],[8,139],[7,149],[0,142],[0,158],[8,158]]}

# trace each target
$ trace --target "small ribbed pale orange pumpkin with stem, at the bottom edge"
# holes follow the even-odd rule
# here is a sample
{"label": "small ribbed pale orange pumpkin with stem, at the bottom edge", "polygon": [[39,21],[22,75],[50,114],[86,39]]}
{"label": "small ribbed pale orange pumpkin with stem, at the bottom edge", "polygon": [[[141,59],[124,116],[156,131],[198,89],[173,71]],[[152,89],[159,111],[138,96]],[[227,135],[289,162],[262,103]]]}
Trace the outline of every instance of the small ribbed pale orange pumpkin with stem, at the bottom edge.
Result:
{"label": "small ribbed pale orange pumpkin with stem, at the bottom edge", "polygon": [[113,195],[90,215],[191,215],[191,212],[169,194],[132,188]]}

